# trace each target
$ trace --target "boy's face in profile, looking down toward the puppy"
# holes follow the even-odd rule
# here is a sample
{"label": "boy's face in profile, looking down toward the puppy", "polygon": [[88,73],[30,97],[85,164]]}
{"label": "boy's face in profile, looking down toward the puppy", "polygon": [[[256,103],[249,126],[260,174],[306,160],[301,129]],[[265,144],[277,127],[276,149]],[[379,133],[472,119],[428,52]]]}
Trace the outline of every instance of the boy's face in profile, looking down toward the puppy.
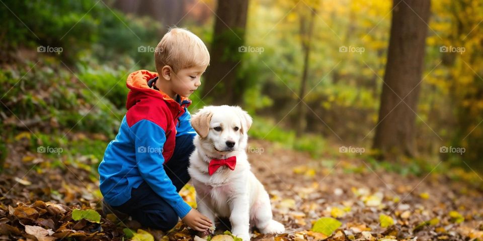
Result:
{"label": "boy's face in profile, looking down toward the puppy", "polygon": [[201,75],[206,67],[191,67],[181,69],[171,76],[172,90],[183,96],[189,97],[201,85]]}

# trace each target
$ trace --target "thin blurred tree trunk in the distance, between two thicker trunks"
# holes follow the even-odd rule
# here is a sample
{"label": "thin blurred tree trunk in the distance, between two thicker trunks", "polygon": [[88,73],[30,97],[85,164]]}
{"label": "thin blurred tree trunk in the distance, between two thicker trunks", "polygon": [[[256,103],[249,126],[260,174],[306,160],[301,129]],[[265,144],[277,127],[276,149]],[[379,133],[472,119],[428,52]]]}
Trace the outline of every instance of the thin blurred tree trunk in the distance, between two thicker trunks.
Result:
{"label": "thin blurred tree trunk in the distance, between two thicker trunks", "polygon": [[[300,17],[300,35],[301,35],[301,43],[302,43],[302,51],[303,51],[303,72],[302,72],[302,79],[300,81],[300,89],[298,92],[298,96],[303,101],[306,92],[307,86],[307,75],[308,75],[308,60],[310,56],[310,44],[312,40],[312,33],[313,33],[313,22],[315,17],[315,10],[311,9],[310,11],[310,18],[308,21],[302,16]],[[308,22],[308,23],[307,23]],[[299,100],[297,100],[298,102]],[[300,106],[297,108],[297,130],[296,134],[297,137],[302,135],[305,132],[307,127],[307,106],[300,102]]]}

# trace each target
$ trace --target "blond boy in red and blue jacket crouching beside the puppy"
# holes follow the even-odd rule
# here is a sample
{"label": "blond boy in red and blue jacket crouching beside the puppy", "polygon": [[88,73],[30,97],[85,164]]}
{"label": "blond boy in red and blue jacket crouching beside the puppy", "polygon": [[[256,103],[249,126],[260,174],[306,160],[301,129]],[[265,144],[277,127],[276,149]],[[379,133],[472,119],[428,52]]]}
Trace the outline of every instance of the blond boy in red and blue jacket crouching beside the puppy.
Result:
{"label": "blond boy in red and blue jacket crouching beside the puppy", "polygon": [[190,180],[189,156],[195,131],[187,107],[210,56],[190,31],[173,28],[154,51],[156,72],[127,78],[127,112],[99,166],[103,210],[131,216],[145,227],[170,230],[180,217],[198,231],[211,220],[179,195]]}

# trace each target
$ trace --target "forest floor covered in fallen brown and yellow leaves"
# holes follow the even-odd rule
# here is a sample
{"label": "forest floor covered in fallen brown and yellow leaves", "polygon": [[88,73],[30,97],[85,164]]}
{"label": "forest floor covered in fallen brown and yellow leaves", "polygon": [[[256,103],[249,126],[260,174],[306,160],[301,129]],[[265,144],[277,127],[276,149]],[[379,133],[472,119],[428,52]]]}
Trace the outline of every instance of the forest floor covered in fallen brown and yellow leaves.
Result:
{"label": "forest floor covered in fallen brown and yellow leaves", "polygon": [[[93,168],[99,160],[55,161],[26,151],[28,140],[18,141],[8,144],[0,175],[0,240],[195,238],[182,222],[164,233],[104,216]],[[252,171],[270,194],[274,219],[286,227],[278,235],[251,230],[252,240],[483,240],[483,192],[464,182],[437,172],[403,176],[374,170],[357,157],[313,159],[274,143],[249,143],[263,150],[249,154]],[[180,193],[196,205],[191,185]],[[100,223],[75,221],[74,209],[96,209]],[[137,231],[124,236],[126,227]],[[219,235],[225,228],[217,225],[212,240],[232,239]]]}

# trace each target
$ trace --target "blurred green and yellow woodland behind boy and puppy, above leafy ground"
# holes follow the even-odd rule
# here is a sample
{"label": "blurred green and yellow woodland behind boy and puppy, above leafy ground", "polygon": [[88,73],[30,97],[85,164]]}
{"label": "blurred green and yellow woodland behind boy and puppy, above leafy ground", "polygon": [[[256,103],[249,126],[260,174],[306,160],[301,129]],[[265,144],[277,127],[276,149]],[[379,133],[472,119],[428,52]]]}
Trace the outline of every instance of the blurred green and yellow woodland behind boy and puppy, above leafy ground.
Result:
{"label": "blurred green and yellow woodland behind boy and puppy, above leafy ground", "polygon": [[[151,50],[176,25],[200,36],[211,53],[192,112],[239,104],[255,116],[251,136],[314,155],[344,145],[365,147],[370,159],[396,148],[386,160],[444,160],[483,170],[481,1],[4,1],[0,7],[3,140],[25,132],[32,143],[72,145],[102,158],[124,114],[127,74],[154,70]],[[39,52],[41,46],[62,51]],[[396,93],[409,95],[397,104]],[[79,132],[98,135],[95,144],[72,137]]]}

